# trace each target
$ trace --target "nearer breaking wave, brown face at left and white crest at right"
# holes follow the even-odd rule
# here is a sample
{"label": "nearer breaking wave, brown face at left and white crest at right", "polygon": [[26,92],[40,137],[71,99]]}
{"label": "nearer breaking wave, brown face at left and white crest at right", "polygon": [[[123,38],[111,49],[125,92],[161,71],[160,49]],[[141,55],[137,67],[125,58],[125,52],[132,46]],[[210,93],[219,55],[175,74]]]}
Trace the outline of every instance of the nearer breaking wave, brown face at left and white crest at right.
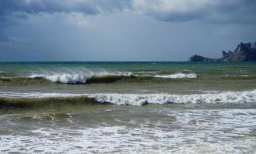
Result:
{"label": "nearer breaking wave, brown face at left and white crest at right", "polygon": [[53,103],[111,103],[114,105],[144,105],[144,104],[217,104],[217,103],[256,103],[256,89],[244,92],[213,92],[206,94],[172,95],[172,94],[63,94],[63,93],[17,93],[0,92],[0,106],[46,105]]}

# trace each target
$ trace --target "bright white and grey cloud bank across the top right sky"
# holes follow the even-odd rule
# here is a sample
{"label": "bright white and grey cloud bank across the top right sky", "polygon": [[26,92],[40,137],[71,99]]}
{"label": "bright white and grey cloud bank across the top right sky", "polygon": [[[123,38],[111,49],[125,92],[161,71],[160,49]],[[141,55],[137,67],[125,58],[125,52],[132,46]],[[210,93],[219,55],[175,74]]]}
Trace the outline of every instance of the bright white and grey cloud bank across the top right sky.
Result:
{"label": "bright white and grey cloud bank across the top right sky", "polygon": [[256,22],[254,0],[136,0],[135,12],[165,22],[203,19],[208,22]]}

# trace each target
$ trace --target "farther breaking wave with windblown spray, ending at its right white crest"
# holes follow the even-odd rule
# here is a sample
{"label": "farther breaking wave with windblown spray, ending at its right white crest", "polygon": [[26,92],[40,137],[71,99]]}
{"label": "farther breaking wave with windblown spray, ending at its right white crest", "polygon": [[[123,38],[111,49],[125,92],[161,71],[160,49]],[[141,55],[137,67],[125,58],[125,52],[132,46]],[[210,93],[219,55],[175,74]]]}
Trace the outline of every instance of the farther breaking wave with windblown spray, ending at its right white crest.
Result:
{"label": "farther breaking wave with windblown spray, ending at its right white crest", "polygon": [[131,72],[104,72],[104,73],[58,73],[58,74],[34,74],[24,77],[0,77],[3,82],[31,82],[43,80],[64,84],[90,84],[90,83],[111,83],[119,80],[158,80],[158,79],[196,79],[195,73],[176,73],[170,75],[147,75],[147,74],[133,74]]}

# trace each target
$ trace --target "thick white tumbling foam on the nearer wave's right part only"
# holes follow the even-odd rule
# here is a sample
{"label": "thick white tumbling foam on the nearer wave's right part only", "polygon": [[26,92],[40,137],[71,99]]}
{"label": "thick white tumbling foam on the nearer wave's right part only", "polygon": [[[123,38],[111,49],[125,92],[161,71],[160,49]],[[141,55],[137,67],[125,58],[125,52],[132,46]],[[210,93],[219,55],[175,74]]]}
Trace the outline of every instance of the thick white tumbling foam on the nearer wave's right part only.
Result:
{"label": "thick white tumbling foam on the nearer wave's right part only", "polygon": [[94,94],[88,95],[97,102],[110,102],[116,105],[143,105],[168,103],[250,103],[256,102],[256,90],[245,92],[219,92],[191,95],[171,94]]}

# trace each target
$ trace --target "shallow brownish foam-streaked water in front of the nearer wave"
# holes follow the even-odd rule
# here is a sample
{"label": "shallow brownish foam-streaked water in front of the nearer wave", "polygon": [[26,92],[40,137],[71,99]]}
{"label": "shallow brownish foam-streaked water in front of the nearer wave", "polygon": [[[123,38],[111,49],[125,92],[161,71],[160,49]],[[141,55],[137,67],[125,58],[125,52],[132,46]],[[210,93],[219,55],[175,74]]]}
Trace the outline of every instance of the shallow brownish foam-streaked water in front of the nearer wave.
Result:
{"label": "shallow brownish foam-streaked water in front of the nearer wave", "polygon": [[0,115],[1,152],[254,153],[256,106],[74,105]]}

